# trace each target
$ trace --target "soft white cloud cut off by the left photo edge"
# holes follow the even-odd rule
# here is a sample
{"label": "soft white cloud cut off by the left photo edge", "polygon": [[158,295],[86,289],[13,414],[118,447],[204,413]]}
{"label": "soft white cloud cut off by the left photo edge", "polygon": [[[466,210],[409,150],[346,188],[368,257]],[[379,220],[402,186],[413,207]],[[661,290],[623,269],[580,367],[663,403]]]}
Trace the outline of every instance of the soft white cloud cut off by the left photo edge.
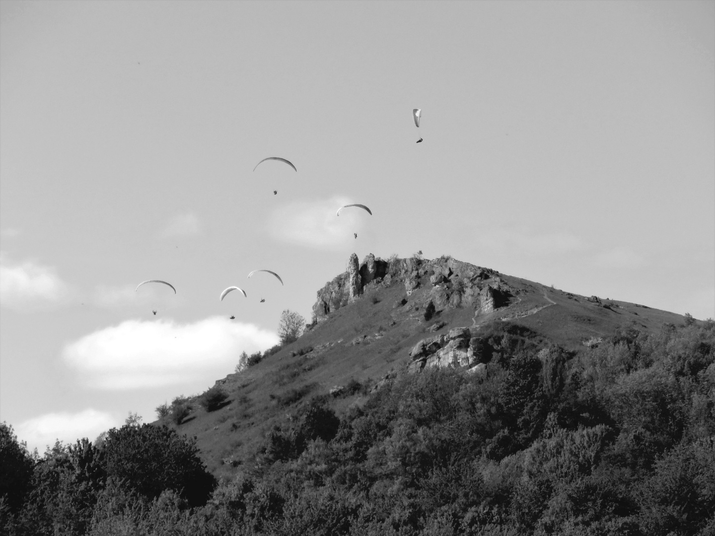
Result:
{"label": "soft white cloud cut off by the left photo edge", "polygon": [[71,297],[69,285],[51,267],[26,261],[11,264],[0,256],[0,304],[10,309],[47,309]]}

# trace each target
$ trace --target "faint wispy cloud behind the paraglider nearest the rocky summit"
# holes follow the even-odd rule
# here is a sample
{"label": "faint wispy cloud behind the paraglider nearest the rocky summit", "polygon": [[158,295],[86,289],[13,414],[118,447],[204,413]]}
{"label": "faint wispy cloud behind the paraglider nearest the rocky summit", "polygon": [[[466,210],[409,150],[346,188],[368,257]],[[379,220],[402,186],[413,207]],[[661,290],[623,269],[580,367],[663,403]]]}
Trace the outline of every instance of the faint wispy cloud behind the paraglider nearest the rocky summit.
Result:
{"label": "faint wispy cloud behind the paraglider nearest the rocky summit", "polygon": [[342,205],[354,203],[343,197],[318,201],[296,201],[283,204],[270,217],[272,237],[314,247],[316,249],[341,249],[350,242],[352,233],[360,233],[370,218],[363,209],[345,209],[340,217],[335,212]]}

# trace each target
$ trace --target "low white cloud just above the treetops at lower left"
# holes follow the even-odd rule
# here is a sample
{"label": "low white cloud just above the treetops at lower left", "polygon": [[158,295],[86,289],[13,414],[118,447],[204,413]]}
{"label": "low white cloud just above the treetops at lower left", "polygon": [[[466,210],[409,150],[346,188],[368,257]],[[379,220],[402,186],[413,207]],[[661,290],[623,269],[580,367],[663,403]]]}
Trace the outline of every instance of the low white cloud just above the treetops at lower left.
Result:
{"label": "low white cloud just above the treetops at lower left", "polygon": [[47,413],[21,422],[15,428],[19,440],[26,441],[29,450],[44,452],[56,440],[74,442],[82,437],[94,441],[105,430],[122,425],[123,421],[107,412],[83,410],[79,413]]}

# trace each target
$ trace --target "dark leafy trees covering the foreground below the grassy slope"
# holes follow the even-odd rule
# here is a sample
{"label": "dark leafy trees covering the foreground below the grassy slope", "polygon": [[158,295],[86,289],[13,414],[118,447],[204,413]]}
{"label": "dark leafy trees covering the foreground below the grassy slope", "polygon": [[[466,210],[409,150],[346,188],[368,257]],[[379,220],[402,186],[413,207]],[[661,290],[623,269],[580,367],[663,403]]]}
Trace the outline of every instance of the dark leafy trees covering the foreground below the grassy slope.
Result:
{"label": "dark leafy trees covering the foreground below the grassy slope", "polygon": [[[167,428],[40,460],[4,438],[24,491],[3,484],[3,533],[714,534],[715,324],[622,329],[578,355],[517,332],[491,334],[483,376],[403,374],[341,418],[314,397],[218,485]],[[174,454],[141,447],[155,435]],[[29,462],[8,472],[6,452]]]}

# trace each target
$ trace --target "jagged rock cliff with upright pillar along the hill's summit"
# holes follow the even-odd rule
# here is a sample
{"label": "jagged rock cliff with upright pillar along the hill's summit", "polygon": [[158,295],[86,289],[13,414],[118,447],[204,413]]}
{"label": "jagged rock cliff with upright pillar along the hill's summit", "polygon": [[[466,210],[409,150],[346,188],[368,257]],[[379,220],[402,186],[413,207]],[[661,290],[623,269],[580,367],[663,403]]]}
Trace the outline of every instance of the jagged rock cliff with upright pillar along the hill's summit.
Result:
{"label": "jagged rock cliff with upright pillar along the hill's summit", "polygon": [[424,298],[425,306],[431,301],[437,310],[475,307],[488,313],[508,304],[511,296],[511,288],[498,273],[452,257],[385,261],[370,253],[358,264],[358,256],[353,253],[347,270],[317,292],[313,316],[317,322],[325,320],[331,312],[355,302],[369,287],[403,284],[409,297],[427,282],[430,289]]}

